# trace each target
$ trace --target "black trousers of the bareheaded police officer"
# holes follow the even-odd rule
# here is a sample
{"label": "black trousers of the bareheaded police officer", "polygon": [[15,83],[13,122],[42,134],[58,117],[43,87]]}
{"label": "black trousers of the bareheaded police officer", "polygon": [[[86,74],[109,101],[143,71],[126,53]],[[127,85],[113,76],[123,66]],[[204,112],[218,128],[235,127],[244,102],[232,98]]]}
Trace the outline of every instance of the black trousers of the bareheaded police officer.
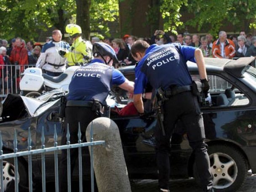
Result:
{"label": "black trousers of the bareheaded police officer", "polygon": [[202,187],[211,187],[212,176],[210,173],[210,161],[205,144],[205,132],[203,117],[197,98],[191,92],[182,92],[169,98],[164,103],[165,136],[159,126],[155,131],[156,158],[159,171],[159,187],[169,189],[170,176],[170,141],[173,129],[178,120],[181,120],[187,132],[189,145],[195,152],[195,163],[200,176]]}

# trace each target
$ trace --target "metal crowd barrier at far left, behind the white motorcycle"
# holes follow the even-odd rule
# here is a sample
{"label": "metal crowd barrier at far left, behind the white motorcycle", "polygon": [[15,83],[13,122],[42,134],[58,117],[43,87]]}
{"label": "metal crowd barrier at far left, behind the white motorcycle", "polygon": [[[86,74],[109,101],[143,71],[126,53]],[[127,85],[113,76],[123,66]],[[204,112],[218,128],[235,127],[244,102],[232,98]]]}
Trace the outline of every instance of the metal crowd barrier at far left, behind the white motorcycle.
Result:
{"label": "metal crowd barrier at far left, behind the white motorcycle", "polygon": [[35,65],[0,65],[0,97],[8,93],[19,94],[20,75],[28,67]]}

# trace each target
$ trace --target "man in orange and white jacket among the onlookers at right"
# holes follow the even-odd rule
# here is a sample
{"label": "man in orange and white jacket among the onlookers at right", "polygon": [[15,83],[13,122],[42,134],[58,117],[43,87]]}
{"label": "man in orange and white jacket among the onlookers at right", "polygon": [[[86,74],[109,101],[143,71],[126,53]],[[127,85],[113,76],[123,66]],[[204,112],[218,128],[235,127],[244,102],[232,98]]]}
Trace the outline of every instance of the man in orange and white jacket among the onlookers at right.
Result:
{"label": "man in orange and white jacket among the onlookers at right", "polygon": [[227,39],[227,33],[219,32],[219,39],[213,42],[213,57],[232,59],[235,56],[235,44]]}

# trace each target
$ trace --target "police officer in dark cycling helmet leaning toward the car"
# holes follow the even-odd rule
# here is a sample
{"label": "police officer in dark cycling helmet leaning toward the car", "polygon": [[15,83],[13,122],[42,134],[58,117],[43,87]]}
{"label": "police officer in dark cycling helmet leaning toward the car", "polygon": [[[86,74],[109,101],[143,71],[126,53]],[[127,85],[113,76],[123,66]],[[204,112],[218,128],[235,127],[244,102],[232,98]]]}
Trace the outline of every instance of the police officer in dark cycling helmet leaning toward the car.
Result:
{"label": "police officer in dark cycling helmet leaning toward the car", "polygon": [[[69,84],[69,93],[65,104],[64,133],[61,144],[67,143],[67,123],[69,124],[70,143],[77,143],[78,123],[81,126],[82,138],[85,129],[95,118],[101,116],[100,109],[106,105],[106,98],[112,85],[133,93],[134,83],[114,69],[118,63],[114,49],[106,43],[93,44],[93,56],[86,66],[77,69]],[[71,149],[71,173],[75,166],[78,149]],[[60,191],[67,191],[67,151],[62,150],[60,162]]]}

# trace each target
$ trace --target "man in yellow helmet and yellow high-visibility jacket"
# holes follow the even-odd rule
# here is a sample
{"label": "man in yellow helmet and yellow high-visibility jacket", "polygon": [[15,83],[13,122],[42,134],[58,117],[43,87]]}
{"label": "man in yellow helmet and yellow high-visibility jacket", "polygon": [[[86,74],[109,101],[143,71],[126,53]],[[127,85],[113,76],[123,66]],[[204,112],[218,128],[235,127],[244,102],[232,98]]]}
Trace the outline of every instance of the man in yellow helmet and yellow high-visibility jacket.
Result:
{"label": "man in yellow helmet and yellow high-visibility jacket", "polygon": [[81,27],[77,24],[68,24],[66,26],[66,32],[69,33],[70,37],[73,39],[73,43],[69,50],[61,50],[59,51],[59,54],[62,57],[67,58],[68,67],[73,65],[83,65],[83,63],[91,59],[91,51],[89,50],[86,41],[81,37]]}

